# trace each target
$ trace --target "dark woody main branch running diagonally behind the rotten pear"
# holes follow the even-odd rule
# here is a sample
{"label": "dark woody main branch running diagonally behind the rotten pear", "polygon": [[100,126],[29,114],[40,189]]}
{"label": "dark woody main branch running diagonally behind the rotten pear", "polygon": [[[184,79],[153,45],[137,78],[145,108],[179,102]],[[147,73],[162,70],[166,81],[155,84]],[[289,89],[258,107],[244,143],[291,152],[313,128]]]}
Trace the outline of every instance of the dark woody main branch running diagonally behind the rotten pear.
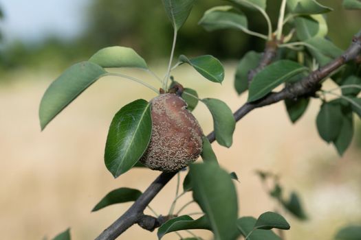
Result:
{"label": "dark woody main branch running diagonally behind the rotten pear", "polygon": [[[269,95],[263,97],[254,102],[246,103],[236,112],[234,112],[234,119],[239,121],[248,112],[252,111],[254,108],[260,108],[270,104],[274,104],[278,101],[284,99],[296,99],[297,97],[303,97],[305,95],[311,95],[318,90],[320,82],[330,75],[333,71],[341,67],[343,64],[350,60],[354,60],[361,53],[361,32],[358,36],[355,36],[352,40],[352,43],[346,51],[336,58],[325,67],[322,67],[312,73],[307,77],[303,78],[295,84],[286,86],[282,91],[278,93],[270,93]],[[210,143],[215,141],[215,132],[208,134],[208,139]],[[153,200],[155,195],[160,192],[160,190],[175,176],[176,173],[161,173],[160,176],[155,179],[154,182],[144,191],[142,195],[136,200],[131,208],[128,209],[121,217],[119,217],[109,228],[104,230],[96,240],[113,240],[116,239],[122,232],[127,230],[133,224],[140,222],[140,219],[144,216],[143,211],[146,206]]]}

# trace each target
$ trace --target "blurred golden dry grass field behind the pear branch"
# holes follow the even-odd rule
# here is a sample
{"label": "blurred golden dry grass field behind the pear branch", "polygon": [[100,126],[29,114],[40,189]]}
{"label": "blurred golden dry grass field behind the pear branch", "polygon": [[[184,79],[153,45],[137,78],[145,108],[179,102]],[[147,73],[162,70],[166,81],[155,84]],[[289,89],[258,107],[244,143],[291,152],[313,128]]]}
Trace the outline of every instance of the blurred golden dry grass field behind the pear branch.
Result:
{"label": "blurred golden dry grass field behind the pear branch", "polygon": [[[233,89],[234,67],[232,63],[227,65],[223,85],[207,82],[188,67],[179,67],[173,74],[185,86],[197,89],[200,97],[217,97],[236,110],[246,96],[237,96]],[[131,205],[118,204],[90,213],[94,204],[118,187],[144,191],[159,174],[133,169],[113,179],[103,163],[113,115],[133,99],[151,99],[153,92],[127,80],[107,77],[91,86],[41,132],[39,102],[58,74],[19,71],[0,84],[0,239],[43,239],[68,227],[75,240],[94,239]],[[149,75],[134,74],[151,81]],[[254,174],[256,169],[279,173],[287,193],[300,193],[309,221],[298,221],[285,213],[292,226],[285,232],[287,240],[332,239],[344,224],[361,221],[360,149],[353,146],[339,158],[331,145],[321,141],[315,124],[319,106],[320,101],[313,100],[296,125],[289,121],[282,103],[256,109],[237,123],[230,149],[213,145],[219,163],[240,178],[240,183],[234,182],[239,215],[257,217],[277,207]],[[194,114],[208,133],[212,129],[210,113],[199,104]],[[151,202],[152,208],[166,214],[174,195],[175,179]],[[178,208],[190,197],[188,194],[180,200]],[[184,213],[195,211],[194,204]],[[212,239],[209,232],[195,232]],[[181,234],[187,236],[186,232]],[[119,239],[157,237],[155,232],[133,226]],[[170,234],[164,239],[179,238]]]}

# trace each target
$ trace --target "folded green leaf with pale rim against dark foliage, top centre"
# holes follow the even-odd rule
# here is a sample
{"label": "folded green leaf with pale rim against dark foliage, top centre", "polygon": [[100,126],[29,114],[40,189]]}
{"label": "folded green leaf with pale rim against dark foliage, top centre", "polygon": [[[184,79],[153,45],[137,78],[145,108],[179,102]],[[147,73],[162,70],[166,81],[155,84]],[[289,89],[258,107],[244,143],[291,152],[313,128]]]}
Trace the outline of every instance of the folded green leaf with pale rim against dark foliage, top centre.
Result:
{"label": "folded green leaf with pale rim against dark foliage, top centre", "polygon": [[198,23],[207,31],[217,29],[240,29],[248,28],[247,18],[243,12],[230,5],[211,8],[204,13]]}

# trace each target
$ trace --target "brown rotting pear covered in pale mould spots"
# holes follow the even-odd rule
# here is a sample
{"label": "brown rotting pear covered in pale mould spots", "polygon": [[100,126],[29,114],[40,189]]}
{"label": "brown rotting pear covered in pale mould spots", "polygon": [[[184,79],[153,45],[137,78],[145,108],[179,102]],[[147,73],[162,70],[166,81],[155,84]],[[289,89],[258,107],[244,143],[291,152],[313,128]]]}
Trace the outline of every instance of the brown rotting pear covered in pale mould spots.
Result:
{"label": "brown rotting pear covered in pale mould spots", "polygon": [[197,160],[203,132],[186,102],[173,93],[151,100],[152,136],[140,162],[153,170],[178,171]]}

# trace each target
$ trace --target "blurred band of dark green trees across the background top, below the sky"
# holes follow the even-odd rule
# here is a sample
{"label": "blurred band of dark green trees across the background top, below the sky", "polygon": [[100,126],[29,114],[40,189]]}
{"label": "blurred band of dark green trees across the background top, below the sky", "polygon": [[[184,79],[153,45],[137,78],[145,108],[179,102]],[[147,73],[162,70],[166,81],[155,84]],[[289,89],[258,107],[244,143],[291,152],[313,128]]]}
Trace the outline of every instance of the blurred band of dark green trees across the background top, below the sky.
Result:
{"label": "blurred band of dark green trees across the background top, below the sky", "polygon": [[[276,25],[281,0],[269,0],[267,5],[272,23]],[[361,16],[357,11],[345,11],[340,0],[323,0],[334,9],[327,14],[329,36],[340,47],[349,45],[351,34],[358,31]],[[186,24],[180,29],[176,56],[211,54],[217,58],[239,59],[248,50],[262,51],[264,43],[234,30],[208,33],[197,25],[206,10],[215,5],[230,5],[228,1],[197,0]],[[149,62],[168,58],[173,30],[161,0],[92,0],[84,9],[87,25],[78,39],[64,41],[44,36],[42,43],[15,41],[0,52],[0,71],[19,67],[47,67],[63,69],[73,62],[86,60],[102,47],[123,45],[133,47]],[[250,29],[266,32],[266,24],[259,12],[243,9],[248,15]],[[1,15],[0,15],[1,16]],[[340,21],[342,19],[342,21]],[[342,29],[342,32],[340,32]],[[0,31],[1,32],[1,31]]]}

